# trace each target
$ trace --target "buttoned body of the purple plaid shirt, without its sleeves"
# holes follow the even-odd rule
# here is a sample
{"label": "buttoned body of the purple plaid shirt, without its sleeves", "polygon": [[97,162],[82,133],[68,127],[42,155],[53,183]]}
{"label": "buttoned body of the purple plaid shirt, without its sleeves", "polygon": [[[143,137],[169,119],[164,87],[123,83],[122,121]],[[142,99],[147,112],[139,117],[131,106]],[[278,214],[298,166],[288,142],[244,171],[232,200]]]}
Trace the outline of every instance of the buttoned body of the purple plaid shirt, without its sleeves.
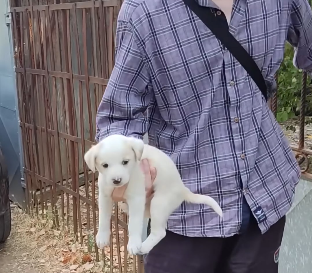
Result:
{"label": "buttoned body of the purple plaid shirt, without its sleeves", "polygon": [[[283,59],[289,6],[286,0],[233,3],[229,30],[267,81]],[[203,205],[183,203],[168,229],[199,237],[236,234],[245,196],[265,232],[290,208],[299,170],[261,92],[182,0],[127,0],[122,10],[119,20],[131,16],[152,79],[150,144],[170,155],[191,191],[212,196],[224,211],[220,221]]]}

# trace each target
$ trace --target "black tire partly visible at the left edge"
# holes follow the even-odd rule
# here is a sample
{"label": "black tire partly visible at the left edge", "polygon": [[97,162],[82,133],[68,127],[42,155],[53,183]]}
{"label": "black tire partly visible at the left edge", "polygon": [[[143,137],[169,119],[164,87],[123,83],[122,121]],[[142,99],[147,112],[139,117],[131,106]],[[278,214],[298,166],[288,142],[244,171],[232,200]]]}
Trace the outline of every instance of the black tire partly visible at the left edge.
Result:
{"label": "black tire partly visible at the left edge", "polygon": [[11,206],[9,200],[9,178],[7,165],[0,148],[0,242],[11,233]]}

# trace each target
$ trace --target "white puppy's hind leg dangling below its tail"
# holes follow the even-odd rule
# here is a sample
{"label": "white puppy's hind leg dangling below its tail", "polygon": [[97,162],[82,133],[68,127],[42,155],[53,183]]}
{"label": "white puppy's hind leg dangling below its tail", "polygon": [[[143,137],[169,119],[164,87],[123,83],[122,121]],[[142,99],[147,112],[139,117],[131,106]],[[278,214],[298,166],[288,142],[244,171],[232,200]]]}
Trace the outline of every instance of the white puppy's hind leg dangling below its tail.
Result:
{"label": "white puppy's hind leg dangling below its tail", "polygon": [[150,234],[142,243],[140,254],[148,253],[155,245],[166,236],[166,223],[170,214],[180,203],[175,198],[154,195],[151,200],[151,229]]}

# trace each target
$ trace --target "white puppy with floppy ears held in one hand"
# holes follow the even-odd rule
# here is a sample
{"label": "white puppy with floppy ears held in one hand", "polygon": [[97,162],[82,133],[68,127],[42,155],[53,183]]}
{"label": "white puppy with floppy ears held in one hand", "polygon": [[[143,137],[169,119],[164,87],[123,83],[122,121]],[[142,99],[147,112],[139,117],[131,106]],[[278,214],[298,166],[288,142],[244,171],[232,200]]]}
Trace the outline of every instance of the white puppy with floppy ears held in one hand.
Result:
{"label": "white puppy with floppy ears held in one hand", "polygon": [[[184,186],[174,162],[159,149],[144,145],[142,140],[110,135],[92,146],[84,158],[91,171],[99,171],[99,231],[95,238],[99,248],[110,243],[112,192],[127,183],[124,198],[129,209],[127,248],[130,254],[148,253],[166,235],[168,217],[183,201],[211,206],[222,217],[222,209],[215,200],[192,193]],[[143,158],[156,168],[157,176],[154,196],[149,211],[145,212],[151,218],[150,235],[142,243],[145,183],[140,160]]]}

